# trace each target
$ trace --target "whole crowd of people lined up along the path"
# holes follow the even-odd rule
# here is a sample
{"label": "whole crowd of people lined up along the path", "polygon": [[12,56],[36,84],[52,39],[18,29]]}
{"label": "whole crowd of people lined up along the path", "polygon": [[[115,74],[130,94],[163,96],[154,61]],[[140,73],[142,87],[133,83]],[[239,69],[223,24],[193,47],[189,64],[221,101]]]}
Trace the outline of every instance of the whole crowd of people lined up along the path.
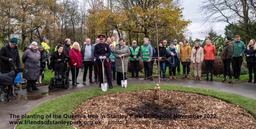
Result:
{"label": "whole crowd of people lined up along the path", "polygon": [[[119,38],[118,42],[115,37],[107,38],[99,35],[96,42],[91,43],[90,38],[80,46],[78,42],[72,43],[70,39],[65,39],[64,45],[56,46],[51,57],[48,57],[50,47],[49,41],[43,38],[43,42],[38,44],[32,42],[29,48],[22,55],[24,68],[28,71],[23,73],[23,78],[27,80],[27,91],[39,90],[36,86],[39,76],[44,81],[44,69],[46,65],[54,71],[54,77],[63,77],[64,62],[68,61],[68,66],[72,73],[72,86],[77,86],[76,81],[79,69],[83,66],[83,84],[86,85],[87,71],[89,69],[89,83],[99,81],[99,87],[103,83],[103,69],[109,88],[113,88],[112,79],[117,80],[117,85],[121,86],[121,80],[126,80],[128,62],[131,65],[132,79],[139,79],[139,62],[143,62],[144,79],[153,80],[153,64],[157,60],[159,63],[159,74],[163,80],[166,79],[166,69],[169,67],[169,79],[176,79],[176,71],[180,74],[180,64],[182,65],[182,78],[189,79],[190,67],[194,67],[194,80],[202,80],[202,63],[206,65],[206,81],[213,80],[213,65],[215,60],[215,46],[211,44],[210,39],[206,39],[206,45],[202,48],[199,42],[195,42],[193,48],[189,45],[187,39],[182,42],[174,39],[169,46],[167,41],[161,41],[158,49],[155,49],[148,38],[144,38],[143,45],[138,46],[136,41],[132,41],[132,46],[125,44],[124,38]],[[228,82],[232,82],[232,76],[240,79],[241,65],[243,56],[246,57],[249,69],[249,83],[252,82],[252,73],[256,72],[256,42],[251,39],[248,46],[240,41],[240,36],[236,35],[235,40],[231,37],[225,38],[225,45],[222,48],[221,59],[223,61],[223,82],[226,81],[228,73]],[[11,61],[16,67],[20,67],[20,58],[18,50],[18,39],[12,38],[8,45],[0,49],[1,68],[0,72],[10,73]],[[158,62],[159,60],[159,62]],[[50,62],[50,63],[49,63]],[[102,66],[103,65],[103,66]],[[231,66],[232,70],[231,71]],[[158,65],[157,65],[158,66]],[[94,70],[94,81],[93,81]],[[67,76],[69,76],[69,71]],[[123,75],[124,74],[124,75]],[[254,76],[254,80],[256,76]],[[256,83],[256,80],[253,82]]]}

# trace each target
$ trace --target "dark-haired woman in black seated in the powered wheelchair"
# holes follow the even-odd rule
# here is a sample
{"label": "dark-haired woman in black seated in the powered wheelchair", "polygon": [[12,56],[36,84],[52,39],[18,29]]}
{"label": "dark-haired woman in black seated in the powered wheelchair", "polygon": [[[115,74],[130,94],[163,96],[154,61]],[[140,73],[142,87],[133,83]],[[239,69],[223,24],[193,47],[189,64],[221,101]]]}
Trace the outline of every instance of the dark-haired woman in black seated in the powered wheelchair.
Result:
{"label": "dark-haired woman in black seated in the powered wheelchair", "polygon": [[50,67],[54,71],[55,78],[63,78],[65,60],[69,61],[69,57],[64,53],[63,46],[59,44],[57,51],[53,52],[50,58]]}

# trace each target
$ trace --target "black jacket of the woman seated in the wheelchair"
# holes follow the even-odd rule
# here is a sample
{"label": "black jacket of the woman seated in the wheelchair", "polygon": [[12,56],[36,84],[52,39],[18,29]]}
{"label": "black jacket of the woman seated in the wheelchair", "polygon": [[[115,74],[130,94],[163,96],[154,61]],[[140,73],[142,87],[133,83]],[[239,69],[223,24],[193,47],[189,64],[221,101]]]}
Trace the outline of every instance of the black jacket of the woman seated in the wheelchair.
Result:
{"label": "black jacket of the woman seated in the wheelchair", "polygon": [[[61,59],[61,60],[58,61],[58,59]],[[53,69],[53,71],[54,71],[54,64],[64,62],[65,59],[68,59],[68,61],[69,61],[69,57],[64,52],[61,55],[59,55],[58,51],[52,53],[52,57],[50,58],[50,68],[49,69]]]}

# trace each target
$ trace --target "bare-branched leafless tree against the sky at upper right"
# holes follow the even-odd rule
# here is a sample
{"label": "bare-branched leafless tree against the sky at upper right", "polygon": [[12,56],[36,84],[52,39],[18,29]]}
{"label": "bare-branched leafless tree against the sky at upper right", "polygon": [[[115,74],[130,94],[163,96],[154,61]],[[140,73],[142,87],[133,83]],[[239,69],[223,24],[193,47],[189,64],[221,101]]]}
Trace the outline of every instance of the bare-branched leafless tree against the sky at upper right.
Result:
{"label": "bare-branched leafless tree against the sky at upper right", "polygon": [[241,29],[245,34],[245,42],[248,43],[249,33],[256,34],[256,32],[251,31],[253,22],[255,22],[255,15],[251,13],[252,5],[254,2],[252,0],[203,0],[201,11],[205,13],[205,22],[227,22],[229,24],[243,24]]}

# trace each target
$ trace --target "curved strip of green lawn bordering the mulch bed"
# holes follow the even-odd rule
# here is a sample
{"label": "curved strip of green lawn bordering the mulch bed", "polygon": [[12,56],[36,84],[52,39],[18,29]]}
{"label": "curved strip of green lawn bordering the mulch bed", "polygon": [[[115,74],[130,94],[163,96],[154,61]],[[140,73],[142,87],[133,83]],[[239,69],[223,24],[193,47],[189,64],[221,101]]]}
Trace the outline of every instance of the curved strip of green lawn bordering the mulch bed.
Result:
{"label": "curved strip of green lawn bordering the mulch bed", "polygon": [[[49,102],[42,103],[28,114],[33,115],[49,115],[49,114],[72,114],[72,111],[87,99],[95,96],[113,94],[124,91],[138,91],[138,90],[154,90],[155,85],[132,85],[127,88],[114,87],[112,90],[102,92],[101,88],[95,88],[93,90],[83,90],[74,92],[62,97],[50,100]],[[225,92],[204,90],[201,88],[181,87],[181,86],[161,86],[161,90],[181,91],[181,92],[192,92],[206,96],[213,96],[229,103],[234,103],[249,111],[254,117],[256,117],[256,100],[246,98],[244,96],[229,94]],[[39,121],[40,119],[21,119],[21,121]],[[45,118],[43,121],[70,121],[70,118]],[[17,125],[16,129],[74,129],[73,126],[67,125]]]}

